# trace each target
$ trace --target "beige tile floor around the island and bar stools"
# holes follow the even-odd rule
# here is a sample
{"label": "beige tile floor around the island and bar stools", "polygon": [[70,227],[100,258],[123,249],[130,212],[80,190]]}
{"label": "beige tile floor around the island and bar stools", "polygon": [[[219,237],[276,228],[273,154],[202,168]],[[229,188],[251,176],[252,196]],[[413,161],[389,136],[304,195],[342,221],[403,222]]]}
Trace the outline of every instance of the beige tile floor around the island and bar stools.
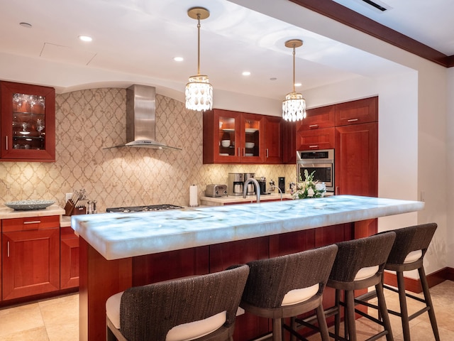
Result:
{"label": "beige tile floor around the island and bar stools", "polygon": [[[398,310],[397,294],[385,291],[388,308]],[[431,288],[435,307],[438,330],[441,341],[454,340],[454,281],[444,281]],[[422,303],[410,303],[410,313]],[[38,303],[21,305],[0,310],[0,341],[77,341],[79,339],[79,295],[77,293],[53,298]],[[402,341],[402,327],[396,316],[391,316],[394,340]],[[411,321],[412,341],[435,340],[424,313]],[[370,337],[374,327],[365,318],[357,320],[358,340]],[[320,340],[319,335],[310,337],[310,341]],[[385,340],[382,337],[380,340]]]}

